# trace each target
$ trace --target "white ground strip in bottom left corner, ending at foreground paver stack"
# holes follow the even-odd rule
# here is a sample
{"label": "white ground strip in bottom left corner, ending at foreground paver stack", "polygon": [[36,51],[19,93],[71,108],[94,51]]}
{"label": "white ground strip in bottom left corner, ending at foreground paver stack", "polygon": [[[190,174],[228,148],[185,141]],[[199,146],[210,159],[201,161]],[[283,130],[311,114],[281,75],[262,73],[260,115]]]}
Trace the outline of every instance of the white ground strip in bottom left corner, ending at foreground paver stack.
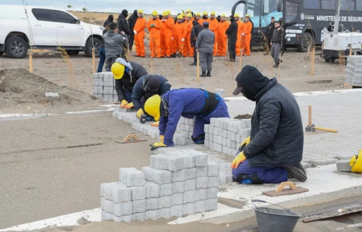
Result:
{"label": "white ground strip in bottom left corner, ending at foreground paver stack", "polygon": [[66,214],[55,218],[48,218],[44,220],[34,221],[31,223],[16,225],[6,229],[0,229],[0,232],[31,231],[34,229],[42,229],[46,227],[79,225],[77,221],[81,218],[87,219],[88,221],[92,222],[101,221],[101,213],[102,213],[101,208],[95,208],[93,210],[84,210],[81,212]]}

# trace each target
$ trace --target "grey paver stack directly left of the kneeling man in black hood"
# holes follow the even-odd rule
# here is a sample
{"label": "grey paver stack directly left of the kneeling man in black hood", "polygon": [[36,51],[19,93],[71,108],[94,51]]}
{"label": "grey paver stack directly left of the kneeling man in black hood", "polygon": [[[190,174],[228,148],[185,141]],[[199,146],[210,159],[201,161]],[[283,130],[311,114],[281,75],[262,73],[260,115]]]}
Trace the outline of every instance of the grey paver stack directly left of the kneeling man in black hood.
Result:
{"label": "grey paver stack directly left of the kneeling man in black hood", "polygon": [[250,119],[212,118],[205,125],[205,146],[235,156],[240,143],[250,136]]}

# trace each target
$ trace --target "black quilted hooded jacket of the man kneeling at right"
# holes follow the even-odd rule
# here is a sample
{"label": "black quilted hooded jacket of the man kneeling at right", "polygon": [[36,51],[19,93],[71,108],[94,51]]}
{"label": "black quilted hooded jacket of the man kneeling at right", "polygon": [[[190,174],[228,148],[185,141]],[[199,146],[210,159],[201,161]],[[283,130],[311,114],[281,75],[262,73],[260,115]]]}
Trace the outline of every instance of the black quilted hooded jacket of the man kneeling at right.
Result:
{"label": "black quilted hooded jacket of the man kneeling at right", "polygon": [[299,106],[289,90],[259,71],[241,81],[256,94],[251,141],[243,152],[254,167],[296,165],[302,160],[304,132]]}

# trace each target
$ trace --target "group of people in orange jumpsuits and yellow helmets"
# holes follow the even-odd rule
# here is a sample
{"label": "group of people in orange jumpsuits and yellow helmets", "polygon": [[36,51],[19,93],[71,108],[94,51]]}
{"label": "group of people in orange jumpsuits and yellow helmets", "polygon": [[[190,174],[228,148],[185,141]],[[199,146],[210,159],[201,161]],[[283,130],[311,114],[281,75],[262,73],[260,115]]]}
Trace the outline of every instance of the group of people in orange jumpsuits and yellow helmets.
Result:
{"label": "group of people in orange jumpsuits and yellow helmets", "polygon": [[[143,17],[142,9],[139,9],[138,18],[133,28],[134,43],[136,45],[136,56],[146,57],[144,37],[145,28],[150,33],[150,51],[152,58],[170,58],[178,56],[193,57],[194,49],[193,41],[191,41],[191,30],[193,21],[196,20],[200,25],[203,22],[209,22],[209,29],[215,34],[214,53],[216,57],[226,56],[227,50],[227,34],[226,30],[230,26],[225,14],[220,18],[215,17],[215,12],[210,13],[210,18],[207,12],[193,14],[191,10],[186,10],[185,13],[178,14],[177,18],[171,17],[169,10],[164,11],[162,15],[157,11],[152,12],[152,18],[146,22]],[[245,20],[235,14],[237,23],[237,40],[236,40],[236,55],[251,55],[250,42],[252,37],[253,25],[250,21],[250,16],[246,15]]]}

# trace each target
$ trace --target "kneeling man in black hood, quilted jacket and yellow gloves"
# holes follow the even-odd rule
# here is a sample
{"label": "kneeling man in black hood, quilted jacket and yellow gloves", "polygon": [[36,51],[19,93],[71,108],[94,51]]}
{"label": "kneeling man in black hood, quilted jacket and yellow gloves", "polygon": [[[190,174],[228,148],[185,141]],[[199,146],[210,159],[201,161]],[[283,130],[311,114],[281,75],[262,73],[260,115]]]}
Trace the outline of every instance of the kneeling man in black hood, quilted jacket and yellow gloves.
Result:
{"label": "kneeling man in black hood, quilted jacket and yellow gloves", "polygon": [[307,180],[300,163],[303,156],[303,125],[299,106],[289,90],[247,65],[236,76],[233,95],[243,94],[256,102],[251,136],[232,162],[237,182],[280,183],[288,178]]}

